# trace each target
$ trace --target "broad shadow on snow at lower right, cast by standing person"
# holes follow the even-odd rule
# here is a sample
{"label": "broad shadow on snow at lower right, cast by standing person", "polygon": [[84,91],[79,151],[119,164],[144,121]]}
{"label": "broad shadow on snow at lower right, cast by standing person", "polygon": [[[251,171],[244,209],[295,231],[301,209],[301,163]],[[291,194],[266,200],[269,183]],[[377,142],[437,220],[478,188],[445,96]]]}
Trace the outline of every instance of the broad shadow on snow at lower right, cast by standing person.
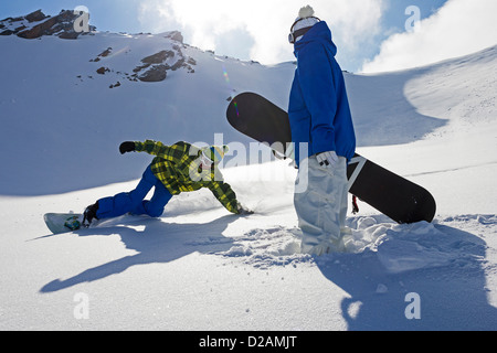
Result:
{"label": "broad shadow on snow at lower right, cast by standing person", "polygon": [[[392,274],[378,253],[337,254],[334,261],[317,261],[322,275],[349,296],[340,302],[348,330],[495,330],[497,309],[488,301],[485,242],[470,233],[435,225],[431,239],[415,237],[415,249],[433,253],[434,266]],[[435,231],[435,232],[436,232]],[[404,237],[409,245],[409,235]],[[441,239],[437,242],[436,236]],[[399,244],[399,242],[392,242]],[[429,245],[426,245],[429,244]],[[385,244],[385,246],[390,246]],[[427,247],[432,246],[432,249]],[[411,247],[410,247],[411,248]],[[401,249],[405,254],[404,249]],[[392,250],[392,254],[395,254]],[[404,255],[403,255],[404,256]],[[436,259],[441,263],[436,265]],[[389,261],[395,257],[389,255]],[[331,265],[332,263],[332,265]]]}

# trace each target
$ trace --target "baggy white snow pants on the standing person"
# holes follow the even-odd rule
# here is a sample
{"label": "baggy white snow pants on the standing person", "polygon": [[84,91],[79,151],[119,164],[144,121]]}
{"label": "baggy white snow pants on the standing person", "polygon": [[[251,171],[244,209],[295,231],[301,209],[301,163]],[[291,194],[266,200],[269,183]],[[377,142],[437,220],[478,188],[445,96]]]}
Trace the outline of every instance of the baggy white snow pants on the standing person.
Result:
{"label": "baggy white snow pants on the standing person", "polygon": [[316,156],[300,162],[294,204],[303,232],[303,253],[322,255],[343,249],[341,238],[347,216],[347,159],[338,159],[337,165],[329,168],[319,165]]}

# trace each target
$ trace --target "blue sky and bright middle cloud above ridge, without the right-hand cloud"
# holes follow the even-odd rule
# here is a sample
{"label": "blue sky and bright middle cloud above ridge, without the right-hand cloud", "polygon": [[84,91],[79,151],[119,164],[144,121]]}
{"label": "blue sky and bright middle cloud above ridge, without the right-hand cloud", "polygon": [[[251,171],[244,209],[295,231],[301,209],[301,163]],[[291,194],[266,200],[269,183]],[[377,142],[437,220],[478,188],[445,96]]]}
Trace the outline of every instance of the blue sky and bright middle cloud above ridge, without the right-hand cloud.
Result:
{"label": "blue sky and bright middle cloud above ridge, without the right-hand cloud", "polygon": [[[489,6],[497,2],[475,2],[485,1]],[[405,13],[408,7],[417,7],[420,20],[424,21],[432,20],[430,18],[447,2],[453,7],[456,2],[469,3],[468,0],[3,0],[0,19],[38,9],[45,14],[56,14],[62,9],[85,6],[91,13],[91,24],[98,31],[180,30],[188,44],[214,50],[216,54],[274,64],[293,60],[293,47],[286,42],[287,31],[298,9],[309,3],[316,15],[330,25],[342,68],[357,72],[364,62],[381,56],[382,44],[390,43],[395,34],[412,40],[413,33],[406,33],[405,28],[412,15]],[[488,41],[491,43],[493,39]]]}

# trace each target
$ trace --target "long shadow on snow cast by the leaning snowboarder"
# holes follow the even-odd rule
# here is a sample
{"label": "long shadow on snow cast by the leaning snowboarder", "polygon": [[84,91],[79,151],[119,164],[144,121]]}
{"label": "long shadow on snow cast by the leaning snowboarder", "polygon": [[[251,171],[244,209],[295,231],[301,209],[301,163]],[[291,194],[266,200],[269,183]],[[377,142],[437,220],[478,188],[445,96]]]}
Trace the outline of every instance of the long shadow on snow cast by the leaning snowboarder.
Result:
{"label": "long shadow on snow cast by the leaning snowboarder", "polygon": [[[145,229],[139,232],[123,225],[80,229],[75,232],[80,236],[93,236],[95,233],[98,236],[119,234],[126,248],[136,250],[138,254],[88,268],[65,280],[55,279],[43,286],[40,292],[54,292],[82,282],[95,281],[120,274],[136,265],[169,263],[194,252],[209,254],[228,250],[233,240],[222,236],[222,233],[234,220],[236,216],[225,215],[205,224],[176,224],[166,223],[159,218],[144,217],[139,225],[145,226]],[[201,234],[199,234],[199,229],[202,231]]]}

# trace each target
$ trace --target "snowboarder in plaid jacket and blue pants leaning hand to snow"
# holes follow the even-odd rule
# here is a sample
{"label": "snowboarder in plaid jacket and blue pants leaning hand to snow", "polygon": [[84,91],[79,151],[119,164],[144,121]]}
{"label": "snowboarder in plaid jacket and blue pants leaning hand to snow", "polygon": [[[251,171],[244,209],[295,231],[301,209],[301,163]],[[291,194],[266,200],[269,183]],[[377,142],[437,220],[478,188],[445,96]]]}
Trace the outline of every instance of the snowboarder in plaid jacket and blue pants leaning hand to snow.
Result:
{"label": "snowboarder in plaid jacket and blue pants leaning hand to snow", "polygon": [[[173,195],[208,188],[219,202],[235,214],[251,213],[236,200],[235,192],[223,181],[219,162],[228,152],[228,146],[199,148],[188,142],[166,146],[162,142],[146,140],[126,141],[119,146],[126,152],[147,152],[156,156],[145,170],[137,188],[130,192],[118,193],[98,200],[86,207],[83,224],[88,226],[93,220],[110,218],[131,214],[147,214],[159,217]],[[155,186],[151,200],[145,200]]]}

